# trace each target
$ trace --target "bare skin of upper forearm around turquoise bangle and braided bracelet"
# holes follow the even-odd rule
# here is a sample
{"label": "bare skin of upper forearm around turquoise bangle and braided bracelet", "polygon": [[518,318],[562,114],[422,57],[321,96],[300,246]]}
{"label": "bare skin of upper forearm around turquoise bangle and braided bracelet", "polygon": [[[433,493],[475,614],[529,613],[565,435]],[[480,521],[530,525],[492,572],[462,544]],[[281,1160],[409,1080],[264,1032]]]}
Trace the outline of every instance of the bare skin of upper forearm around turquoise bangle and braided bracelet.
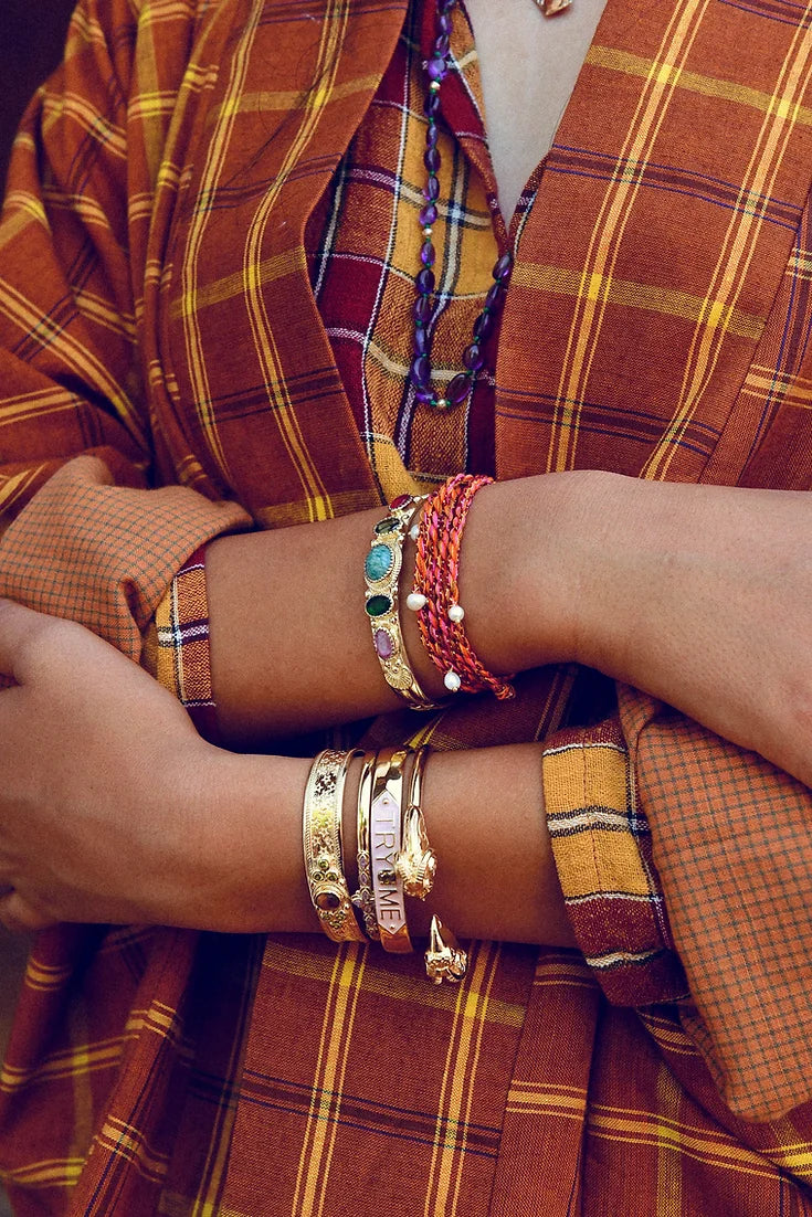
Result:
{"label": "bare skin of upper forearm around turquoise bangle and braided bracelet", "polygon": [[[488,486],[460,557],[467,635],[495,672],[573,658],[573,574],[561,531],[582,510],[584,475]],[[251,746],[402,707],[385,683],[364,612],[363,561],[383,507],[318,525],[224,537],[207,550],[212,677],[220,727]],[[404,607],[414,544],[404,548],[401,619],[422,685],[444,696]]]}

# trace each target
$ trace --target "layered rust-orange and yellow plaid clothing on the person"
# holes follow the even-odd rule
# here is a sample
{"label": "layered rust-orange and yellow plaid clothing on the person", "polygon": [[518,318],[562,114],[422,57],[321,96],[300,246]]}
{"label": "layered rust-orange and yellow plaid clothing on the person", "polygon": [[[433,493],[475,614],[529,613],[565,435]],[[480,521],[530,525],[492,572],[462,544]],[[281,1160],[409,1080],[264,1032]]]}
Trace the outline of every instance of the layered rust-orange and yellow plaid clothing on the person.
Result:
{"label": "layered rust-orange and yellow plaid clothing on the person", "polygon": [[[190,702],[211,690],[187,556],[224,531],[330,518],[483,461],[810,484],[810,13],[609,0],[514,225],[494,383],[435,434],[403,387],[421,180],[404,11],[83,0],[17,144],[0,590],[135,658],[146,635]],[[466,34],[465,79],[443,89],[460,147],[449,136],[438,241],[449,365],[504,239],[465,127]],[[364,167],[398,147],[381,218]],[[342,208],[355,190],[369,232]],[[353,312],[341,265],[368,240]],[[482,943],[459,989],[433,991],[414,959],[318,938],[45,933],[0,1076],[21,1212],[805,1211],[808,791],[571,668],[429,734],[545,740],[587,961]]]}

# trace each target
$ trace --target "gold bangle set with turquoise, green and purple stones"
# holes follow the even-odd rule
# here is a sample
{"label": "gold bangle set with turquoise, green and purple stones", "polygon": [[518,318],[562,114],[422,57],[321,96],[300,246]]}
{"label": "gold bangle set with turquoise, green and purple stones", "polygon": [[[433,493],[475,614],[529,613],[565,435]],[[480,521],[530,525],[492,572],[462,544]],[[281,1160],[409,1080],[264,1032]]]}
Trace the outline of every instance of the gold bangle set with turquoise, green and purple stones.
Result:
{"label": "gold bangle set with turquoise, green and purple stones", "polygon": [[398,578],[403,566],[403,545],[411,521],[427,497],[401,495],[379,523],[364,560],[366,613],[373,629],[373,645],[383,672],[383,679],[413,710],[439,710],[411,671],[403,645],[398,607]]}

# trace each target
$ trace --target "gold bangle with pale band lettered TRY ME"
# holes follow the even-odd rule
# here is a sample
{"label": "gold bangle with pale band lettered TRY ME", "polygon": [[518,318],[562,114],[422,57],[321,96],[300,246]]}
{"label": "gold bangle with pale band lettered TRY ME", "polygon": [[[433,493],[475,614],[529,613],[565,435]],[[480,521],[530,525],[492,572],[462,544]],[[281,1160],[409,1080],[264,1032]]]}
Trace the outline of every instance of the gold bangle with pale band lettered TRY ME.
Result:
{"label": "gold bangle with pale band lettered TRY ME", "polygon": [[373,894],[381,946],[396,955],[410,952],[403,882],[394,869],[401,852],[403,767],[408,748],[385,748],[375,758],[369,804]]}

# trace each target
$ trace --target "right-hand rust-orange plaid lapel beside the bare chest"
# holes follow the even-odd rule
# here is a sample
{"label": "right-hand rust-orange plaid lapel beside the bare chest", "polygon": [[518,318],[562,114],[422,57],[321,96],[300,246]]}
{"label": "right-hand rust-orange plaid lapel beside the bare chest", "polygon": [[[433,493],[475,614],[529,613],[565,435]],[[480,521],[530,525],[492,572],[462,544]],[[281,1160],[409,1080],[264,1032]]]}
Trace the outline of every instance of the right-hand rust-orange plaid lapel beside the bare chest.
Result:
{"label": "right-hand rust-orange plaid lapel beside the bare chest", "polygon": [[497,469],[702,475],[810,190],[810,7],[609,0],[519,234]]}

